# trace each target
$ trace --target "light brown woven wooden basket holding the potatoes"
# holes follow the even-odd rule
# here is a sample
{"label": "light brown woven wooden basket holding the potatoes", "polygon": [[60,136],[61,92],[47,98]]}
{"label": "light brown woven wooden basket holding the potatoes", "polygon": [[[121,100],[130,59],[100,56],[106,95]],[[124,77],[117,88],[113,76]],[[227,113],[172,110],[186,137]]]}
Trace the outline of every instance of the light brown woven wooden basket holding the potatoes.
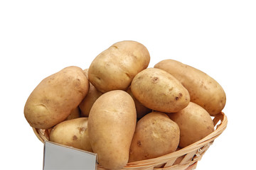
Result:
{"label": "light brown woven wooden basket holding the potatoes", "polygon": [[[215,127],[215,131],[210,133],[210,135],[204,137],[202,140],[195,142],[187,147],[177,150],[176,152],[172,152],[170,154],[166,154],[161,157],[156,157],[154,159],[146,159],[139,162],[129,162],[123,169],[129,170],[191,170],[196,169],[196,165],[198,161],[201,160],[203,154],[206,150],[213,144],[215,138],[217,138],[227,127],[228,118],[226,115],[221,112],[213,117],[213,123]],[[48,130],[41,130],[33,128],[33,132],[35,132],[41,142],[45,142],[49,140]],[[97,169],[105,170],[99,164],[97,165]]]}

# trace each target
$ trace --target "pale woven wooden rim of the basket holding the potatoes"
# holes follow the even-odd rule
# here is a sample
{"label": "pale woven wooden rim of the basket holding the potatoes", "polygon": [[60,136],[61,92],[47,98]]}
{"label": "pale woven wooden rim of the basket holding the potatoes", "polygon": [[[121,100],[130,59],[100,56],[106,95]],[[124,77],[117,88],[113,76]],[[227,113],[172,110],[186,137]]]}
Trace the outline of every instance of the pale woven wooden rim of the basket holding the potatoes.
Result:
{"label": "pale woven wooden rim of the basket holding the potatoes", "polygon": [[[208,136],[204,137],[201,140],[198,140],[197,142],[194,142],[191,145],[188,145],[187,147],[183,147],[175,152],[171,152],[170,154],[165,154],[161,157],[156,157],[156,158],[151,158],[151,159],[145,159],[142,161],[137,161],[137,162],[129,162],[127,163],[126,166],[124,166],[124,169],[132,169],[134,167],[136,167],[137,165],[139,166],[144,166],[144,167],[151,167],[154,166],[154,164],[161,164],[161,162],[166,162],[167,160],[170,159],[176,159],[177,157],[181,157],[184,154],[187,154],[189,152],[193,152],[195,150],[200,149],[201,147],[205,146],[205,145],[211,145],[213,143],[213,141],[215,140],[215,138],[217,138],[227,127],[228,125],[228,118],[225,115],[225,113],[220,112],[216,115],[213,115],[213,123],[214,123],[214,127],[216,127],[216,129],[211,132]],[[220,123],[219,123],[220,121]],[[219,123],[219,124],[218,124]],[[48,131],[43,131],[41,129],[37,129],[37,128],[33,128],[33,132],[36,134],[36,137],[38,137],[38,140],[40,140],[41,142],[45,142],[48,141],[48,138],[46,137],[46,135],[48,135]],[[100,166],[100,165],[98,165]],[[101,168],[103,168],[102,166],[100,166]]]}

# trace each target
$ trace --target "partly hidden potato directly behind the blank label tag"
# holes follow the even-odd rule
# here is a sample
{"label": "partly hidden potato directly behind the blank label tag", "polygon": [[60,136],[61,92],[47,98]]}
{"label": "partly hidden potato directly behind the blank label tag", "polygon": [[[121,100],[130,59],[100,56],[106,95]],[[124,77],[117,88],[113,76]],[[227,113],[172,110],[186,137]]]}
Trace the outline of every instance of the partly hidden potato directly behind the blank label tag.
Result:
{"label": "partly hidden potato directly behind the blank label tag", "polygon": [[75,118],[55,125],[50,132],[50,141],[92,152],[87,122],[88,118]]}

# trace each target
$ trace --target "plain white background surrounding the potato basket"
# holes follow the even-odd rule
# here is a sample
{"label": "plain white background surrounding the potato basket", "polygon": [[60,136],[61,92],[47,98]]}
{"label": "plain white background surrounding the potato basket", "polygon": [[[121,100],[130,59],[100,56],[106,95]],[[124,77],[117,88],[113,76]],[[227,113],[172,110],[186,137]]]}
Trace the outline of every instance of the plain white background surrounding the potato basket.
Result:
{"label": "plain white background surrounding the potato basket", "polygon": [[42,169],[41,143],[23,116],[50,74],[88,68],[102,50],[136,40],[149,67],[174,59],[201,69],[227,95],[228,128],[198,170],[255,168],[255,1],[1,1],[0,169]]}

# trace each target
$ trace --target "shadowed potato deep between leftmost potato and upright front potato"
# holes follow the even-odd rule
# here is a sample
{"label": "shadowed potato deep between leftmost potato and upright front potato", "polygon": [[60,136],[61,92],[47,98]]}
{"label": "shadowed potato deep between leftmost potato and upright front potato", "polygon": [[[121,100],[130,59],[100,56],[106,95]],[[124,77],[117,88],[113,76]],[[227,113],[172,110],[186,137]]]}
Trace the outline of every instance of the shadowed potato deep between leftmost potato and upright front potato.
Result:
{"label": "shadowed potato deep between leftmost potato and upright front potato", "polygon": [[[85,76],[88,78],[88,69],[84,70]],[[81,110],[81,115],[83,117],[88,117],[90,109],[92,108],[93,103],[102,95],[102,92],[98,91],[95,86],[90,83],[89,91],[82,102],[79,104]]]}

